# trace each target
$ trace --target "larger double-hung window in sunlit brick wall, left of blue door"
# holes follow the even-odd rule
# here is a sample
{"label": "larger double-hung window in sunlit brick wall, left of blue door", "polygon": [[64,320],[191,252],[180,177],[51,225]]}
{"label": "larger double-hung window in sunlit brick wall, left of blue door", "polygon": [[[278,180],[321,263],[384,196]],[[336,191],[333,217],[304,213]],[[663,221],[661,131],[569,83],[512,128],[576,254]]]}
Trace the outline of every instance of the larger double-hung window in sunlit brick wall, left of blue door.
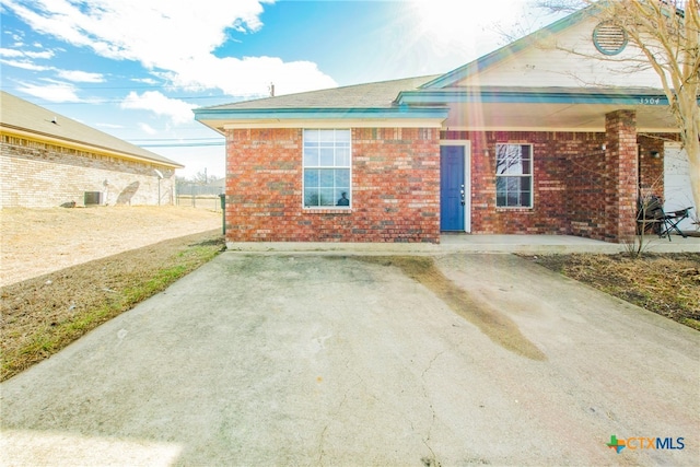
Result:
{"label": "larger double-hung window in sunlit brick wall, left of blue door", "polygon": [[304,130],[304,208],[350,208],[350,130]]}

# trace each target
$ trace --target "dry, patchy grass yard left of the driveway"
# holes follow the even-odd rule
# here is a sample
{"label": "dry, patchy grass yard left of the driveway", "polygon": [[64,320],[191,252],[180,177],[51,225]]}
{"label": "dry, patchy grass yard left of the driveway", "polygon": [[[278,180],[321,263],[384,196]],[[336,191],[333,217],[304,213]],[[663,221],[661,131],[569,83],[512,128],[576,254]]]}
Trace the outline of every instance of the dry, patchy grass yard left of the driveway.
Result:
{"label": "dry, patchy grass yard left of the driveway", "polygon": [[0,381],[213,258],[221,213],[175,207],[0,211]]}

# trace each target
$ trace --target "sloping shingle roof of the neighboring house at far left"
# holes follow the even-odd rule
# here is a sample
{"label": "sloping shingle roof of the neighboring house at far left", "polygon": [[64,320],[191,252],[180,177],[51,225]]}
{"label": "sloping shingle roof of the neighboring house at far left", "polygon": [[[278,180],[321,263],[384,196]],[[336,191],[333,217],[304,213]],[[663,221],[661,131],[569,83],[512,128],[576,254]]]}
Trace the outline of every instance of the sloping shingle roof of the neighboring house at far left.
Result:
{"label": "sloping shingle roof of the neighboring house at far left", "polygon": [[68,143],[80,143],[93,147],[96,150],[121,153],[127,157],[137,157],[171,167],[183,167],[182,164],[154,152],[3,91],[0,92],[0,127],[27,131],[36,135],[37,138],[56,138]]}

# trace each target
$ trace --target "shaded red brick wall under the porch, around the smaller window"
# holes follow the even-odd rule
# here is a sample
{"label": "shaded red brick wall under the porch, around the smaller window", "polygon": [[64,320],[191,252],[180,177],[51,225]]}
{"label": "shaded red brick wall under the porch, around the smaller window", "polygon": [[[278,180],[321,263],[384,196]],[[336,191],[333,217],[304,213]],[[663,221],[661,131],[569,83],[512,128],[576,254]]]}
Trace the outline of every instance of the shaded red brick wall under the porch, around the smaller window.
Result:
{"label": "shaded red brick wall under the porch, around the smaller window", "polygon": [[[569,234],[619,241],[618,234],[610,233],[619,230],[617,224],[612,226],[609,222],[610,215],[620,213],[608,212],[608,206],[611,197],[618,196],[620,178],[619,171],[616,178],[608,176],[612,167],[606,163],[603,150],[606,133],[446,131],[442,138],[471,141],[472,233]],[[532,209],[495,207],[495,144],[501,142],[533,144]],[[663,192],[663,159],[651,156],[652,151],[663,153],[663,140],[640,136],[638,142],[642,186],[653,184],[655,190]],[[627,161],[628,166],[630,163]],[[627,174],[629,178],[631,172],[628,170]],[[637,180],[628,178],[622,182],[627,186],[623,192],[628,202],[635,201]],[[629,218],[628,224],[634,219],[634,213],[628,211],[623,215]]]}

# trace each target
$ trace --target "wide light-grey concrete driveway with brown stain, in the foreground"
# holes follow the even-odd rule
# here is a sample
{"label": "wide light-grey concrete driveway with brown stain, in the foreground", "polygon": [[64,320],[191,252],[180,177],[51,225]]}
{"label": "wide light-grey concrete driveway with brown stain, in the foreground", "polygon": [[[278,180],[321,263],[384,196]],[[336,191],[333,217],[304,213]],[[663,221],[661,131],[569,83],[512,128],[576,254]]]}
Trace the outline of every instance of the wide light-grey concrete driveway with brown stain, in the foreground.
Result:
{"label": "wide light-grey concrete driveway with brown stain, in the foreground", "polygon": [[1,390],[3,465],[700,459],[700,334],[512,255],[224,253]]}

